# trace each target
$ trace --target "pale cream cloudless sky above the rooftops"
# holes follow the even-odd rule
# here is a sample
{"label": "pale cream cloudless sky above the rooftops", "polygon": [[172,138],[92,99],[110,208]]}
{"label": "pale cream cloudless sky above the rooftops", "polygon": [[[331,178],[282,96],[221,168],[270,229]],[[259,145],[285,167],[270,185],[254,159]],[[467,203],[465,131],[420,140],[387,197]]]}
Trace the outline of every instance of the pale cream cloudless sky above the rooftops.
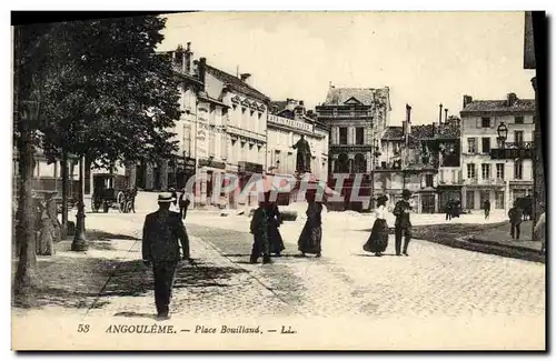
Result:
{"label": "pale cream cloudless sky above the rooftops", "polygon": [[159,50],[191,42],[193,57],[251,73],[272,100],[326,100],[329,84],[389,87],[391,124],[459,114],[463,96],[534,98],[523,69],[523,12],[197,12],[168,14]]}

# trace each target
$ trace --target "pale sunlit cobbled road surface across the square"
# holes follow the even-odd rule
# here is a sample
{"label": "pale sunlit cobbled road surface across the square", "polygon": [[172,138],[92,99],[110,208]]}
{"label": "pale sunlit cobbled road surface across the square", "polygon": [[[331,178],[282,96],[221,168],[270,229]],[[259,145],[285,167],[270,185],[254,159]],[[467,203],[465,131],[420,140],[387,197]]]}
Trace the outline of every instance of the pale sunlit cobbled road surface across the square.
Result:
{"label": "pale sunlit cobbled road surface across the square", "polygon": [[[141,214],[115,215],[90,215],[89,227],[140,234]],[[361,250],[368,234],[358,225],[349,229],[349,222],[344,222],[347,229],[325,227],[321,259],[299,258],[296,241],[302,222],[289,222],[282,227],[284,257],[271,265],[249,264],[248,221],[247,217],[202,214],[188,219],[196,264],[185,265],[178,274],[175,312],[191,317],[544,317],[545,267],[539,263],[418,240],[411,243],[409,258],[369,257]],[[387,253],[393,245],[390,239]],[[130,258],[140,257],[139,247],[140,242],[133,245]],[[146,295],[140,307],[132,298],[115,299],[120,304],[115,313],[152,308],[151,294]]]}

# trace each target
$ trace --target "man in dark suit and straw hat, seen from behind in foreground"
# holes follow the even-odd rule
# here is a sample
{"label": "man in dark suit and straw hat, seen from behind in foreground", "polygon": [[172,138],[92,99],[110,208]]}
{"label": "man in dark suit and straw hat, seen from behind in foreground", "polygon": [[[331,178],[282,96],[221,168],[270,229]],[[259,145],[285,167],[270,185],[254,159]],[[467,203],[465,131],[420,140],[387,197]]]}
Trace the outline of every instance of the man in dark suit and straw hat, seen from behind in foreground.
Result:
{"label": "man in dark suit and straw hat, seen from behind in foreground", "polygon": [[[158,317],[167,319],[173,278],[180,259],[189,259],[189,238],[180,214],[170,211],[171,193],[158,195],[158,211],[147,214],[142,230],[142,259],[152,264]],[[178,241],[179,239],[179,241]],[[180,257],[180,243],[182,257]]]}

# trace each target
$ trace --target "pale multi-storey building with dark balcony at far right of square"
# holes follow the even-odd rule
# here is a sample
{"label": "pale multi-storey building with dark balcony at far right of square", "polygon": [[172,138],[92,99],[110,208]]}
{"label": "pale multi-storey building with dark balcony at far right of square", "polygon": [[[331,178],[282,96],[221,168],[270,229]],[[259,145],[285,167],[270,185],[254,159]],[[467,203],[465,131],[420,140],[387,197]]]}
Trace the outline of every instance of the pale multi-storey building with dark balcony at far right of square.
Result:
{"label": "pale multi-storey building with dark balcony at far right of square", "polygon": [[[504,100],[464,96],[461,116],[463,205],[508,210],[517,198],[533,193],[532,141],[535,100],[509,93]],[[506,126],[507,139],[498,140]],[[504,149],[503,149],[504,148]]]}

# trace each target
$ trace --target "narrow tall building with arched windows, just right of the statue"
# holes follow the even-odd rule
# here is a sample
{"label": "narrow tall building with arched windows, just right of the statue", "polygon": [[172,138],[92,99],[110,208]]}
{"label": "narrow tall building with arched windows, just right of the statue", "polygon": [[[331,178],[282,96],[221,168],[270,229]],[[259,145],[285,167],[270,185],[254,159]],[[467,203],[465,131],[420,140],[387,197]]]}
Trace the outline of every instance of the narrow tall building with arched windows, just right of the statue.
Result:
{"label": "narrow tall building with arched windows, just right of the statue", "polygon": [[[350,202],[351,191],[360,197],[373,193],[370,172],[375,163],[375,150],[389,126],[389,89],[336,88],[330,86],[325,102],[316,107],[317,120],[330,129],[329,136],[329,185],[336,188],[337,177],[345,178],[341,193],[344,204],[338,210],[364,210],[370,204]],[[356,174],[360,174],[356,177]],[[355,184],[356,179],[360,184]],[[357,187],[354,187],[357,185]]]}

